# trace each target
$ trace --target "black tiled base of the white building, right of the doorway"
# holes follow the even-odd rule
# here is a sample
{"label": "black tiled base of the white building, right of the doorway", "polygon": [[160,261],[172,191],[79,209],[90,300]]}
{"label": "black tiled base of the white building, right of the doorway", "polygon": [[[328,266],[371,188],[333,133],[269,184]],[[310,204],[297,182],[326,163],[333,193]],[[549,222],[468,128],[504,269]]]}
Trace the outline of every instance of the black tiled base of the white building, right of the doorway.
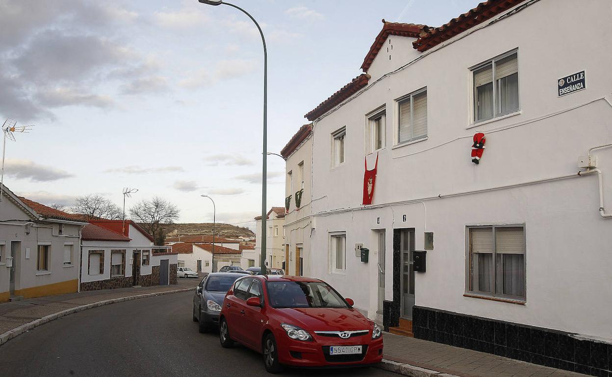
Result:
{"label": "black tiled base of the white building, right of the doorway", "polygon": [[432,342],[612,377],[612,344],[576,339],[567,332],[418,306],[412,309],[412,331]]}

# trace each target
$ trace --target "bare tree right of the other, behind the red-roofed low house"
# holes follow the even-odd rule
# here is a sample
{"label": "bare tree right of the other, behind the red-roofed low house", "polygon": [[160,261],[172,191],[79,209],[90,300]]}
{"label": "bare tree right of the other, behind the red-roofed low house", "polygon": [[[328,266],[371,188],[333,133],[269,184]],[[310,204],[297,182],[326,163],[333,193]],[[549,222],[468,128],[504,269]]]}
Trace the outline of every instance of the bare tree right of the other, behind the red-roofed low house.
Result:
{"label": "bare tree right of the other, behind the red-roofed low house", "polygon": [[165,229],[162,224],[172,224],[179,218],[179,208],[159,196],[151,200],[141,200],[130,208],[134,221],[140,222],[154,238],[155,245],[163,246]]}

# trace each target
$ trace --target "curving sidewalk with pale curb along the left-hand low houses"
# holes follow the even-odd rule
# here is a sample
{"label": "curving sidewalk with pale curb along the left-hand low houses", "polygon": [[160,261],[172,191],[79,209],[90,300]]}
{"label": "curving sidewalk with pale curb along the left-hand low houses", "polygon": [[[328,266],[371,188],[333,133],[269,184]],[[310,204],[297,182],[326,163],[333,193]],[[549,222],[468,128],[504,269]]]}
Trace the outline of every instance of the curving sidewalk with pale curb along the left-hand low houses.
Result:
{"label": "curving sidewalk with pale curb along the left-hand low houses", "polygon": [[0,304],[0,335],[19,326],[63,310],[132,296],[193,289],[201,279],[178,279],[176,285],[157,285],[142,288],[120,288],[113,290],[85,291],[67,295],[46,296]]}

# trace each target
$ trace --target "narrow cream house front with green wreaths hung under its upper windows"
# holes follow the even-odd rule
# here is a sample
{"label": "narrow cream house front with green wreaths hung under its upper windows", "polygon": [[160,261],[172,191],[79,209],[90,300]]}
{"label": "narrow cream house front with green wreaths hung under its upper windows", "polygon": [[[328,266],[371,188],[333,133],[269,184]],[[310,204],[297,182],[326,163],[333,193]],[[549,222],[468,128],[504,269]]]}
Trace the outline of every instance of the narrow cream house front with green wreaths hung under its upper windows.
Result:
{"label": "narrow cream house front with green wreaths hung under its upper windows", "polygon": [[300,127],[280,152],[285,175],[285,273],[310,274],[312,125]]}

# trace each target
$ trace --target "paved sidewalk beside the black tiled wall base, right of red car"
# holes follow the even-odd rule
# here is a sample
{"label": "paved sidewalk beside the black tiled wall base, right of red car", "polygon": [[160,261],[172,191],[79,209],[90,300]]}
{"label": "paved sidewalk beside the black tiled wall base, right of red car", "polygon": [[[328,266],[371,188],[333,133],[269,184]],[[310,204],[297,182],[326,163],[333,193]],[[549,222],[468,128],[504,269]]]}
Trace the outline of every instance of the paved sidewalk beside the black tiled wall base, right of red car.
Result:
{"label": "paved sidewalk beside the black tiled wall base, right of red car", "polygon": [[384,334],[384,359],[386,361],[380,365],[381,368],[406,376],[584,376],[507,357],[387,333]]}

